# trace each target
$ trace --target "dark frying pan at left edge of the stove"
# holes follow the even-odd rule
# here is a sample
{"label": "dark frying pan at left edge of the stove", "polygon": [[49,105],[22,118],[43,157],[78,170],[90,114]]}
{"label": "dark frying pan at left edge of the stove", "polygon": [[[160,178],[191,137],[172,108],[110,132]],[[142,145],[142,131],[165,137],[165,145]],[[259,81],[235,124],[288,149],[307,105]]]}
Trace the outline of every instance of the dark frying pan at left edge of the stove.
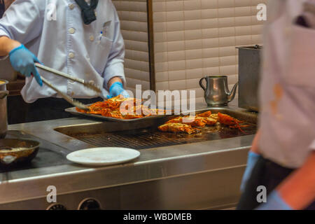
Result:
{"label": "dark frying pan at left edge of the stove", "polygon": [[0,167],[31,162],[38,153],[38,141],[0,139]]}

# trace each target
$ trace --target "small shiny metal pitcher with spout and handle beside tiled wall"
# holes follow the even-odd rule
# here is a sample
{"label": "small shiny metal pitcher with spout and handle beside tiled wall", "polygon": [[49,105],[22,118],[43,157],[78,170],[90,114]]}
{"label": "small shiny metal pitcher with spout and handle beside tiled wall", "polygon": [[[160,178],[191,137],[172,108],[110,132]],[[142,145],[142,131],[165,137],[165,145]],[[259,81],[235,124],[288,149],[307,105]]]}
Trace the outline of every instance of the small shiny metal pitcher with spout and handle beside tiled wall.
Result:
{"label": "small shiny metal pitcher with spout and handle beside tiled wall", "polygon": [[[207,87],[202,84],[203,80],[207,81]],[[228,76],[207,76],[200,79],[200,86],[204,90],[204,99],[208,106],[226,106],[235,98],[237,90],[236,83],[232,91],[228,88]]]}

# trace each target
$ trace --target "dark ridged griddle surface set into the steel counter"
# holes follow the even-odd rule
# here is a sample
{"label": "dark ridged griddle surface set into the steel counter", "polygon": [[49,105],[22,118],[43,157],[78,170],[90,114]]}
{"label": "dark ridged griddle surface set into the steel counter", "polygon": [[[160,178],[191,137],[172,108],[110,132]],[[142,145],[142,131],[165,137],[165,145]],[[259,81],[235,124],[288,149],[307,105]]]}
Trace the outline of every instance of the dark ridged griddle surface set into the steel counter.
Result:
{"label": "dark ridged griddle surface set into the steel counter", "polygon": [[[62,132],[70,137],[84,141],[99,147],[127,147],[134,149],[158,148],[162,146],[174,146],[179,144],[191,144],[200,141],[211,141],[218,139],[228,139],[240,137],[248,134],[255,134],[257,131],[257,115],[251,113],[242,113],[230,109],[204,109],[196,111],[203,113],[211,110],[212,113],[225,113],[233,118],[244,121],[248,127],[242,127],[241,132],[238,129],[230,128],[225,125],[216,125],[215,127],[200,128],[202,132],[197,134],[186,133],[169,133],[161,132],[158,126],[165,121],[176,117],[169,116],[160,118],[151,123],[150,127],[141,127],[140,123],[128,124],[129,127],[123,130],[123,123],[106,124],[102,127],[63,127],[57,131]],[[146,122],[143,120],[144,125]],[[126,124],[127,125],[127,124]],[[120,128],[121,130],[120,130]],[[115,129],[113,131],[113,128]]]}

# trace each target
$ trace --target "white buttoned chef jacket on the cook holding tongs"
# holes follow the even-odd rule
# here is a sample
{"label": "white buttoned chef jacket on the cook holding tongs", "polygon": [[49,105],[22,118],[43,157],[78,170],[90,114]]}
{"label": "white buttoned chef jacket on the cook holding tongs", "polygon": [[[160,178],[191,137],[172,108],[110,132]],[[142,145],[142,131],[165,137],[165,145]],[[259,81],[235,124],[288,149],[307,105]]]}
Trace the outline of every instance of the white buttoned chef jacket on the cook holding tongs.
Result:
{"label": "white buttoned chef jacket on the cook holding tongs", "polygon": [[[125,83],[125,45],[111,0],[99,1],[96,13],[97,20],[85,25],[74,0],[16,0],[0,20],[0,36],[25,44],[45,66],[93,80],[104,87],[102,97],[106,97],[111,78],[117,76]],[[71,97],[99,96],[79,83],[41,69],[38,72]],[[44,97],[59,98],[45,84],[39,87],[34,78],[26,79],[21,93],[25,102]]]}

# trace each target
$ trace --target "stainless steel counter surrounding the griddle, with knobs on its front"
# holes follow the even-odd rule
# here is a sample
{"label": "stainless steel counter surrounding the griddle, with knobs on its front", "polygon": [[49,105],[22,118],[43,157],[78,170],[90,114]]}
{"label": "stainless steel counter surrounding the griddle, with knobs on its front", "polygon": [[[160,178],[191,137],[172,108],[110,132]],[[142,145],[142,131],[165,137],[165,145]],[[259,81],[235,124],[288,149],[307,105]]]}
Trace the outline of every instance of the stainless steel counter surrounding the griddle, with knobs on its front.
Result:
{"label": "stainless steel counter surrounding the griddle, with knobs on its front", "polygon": [[[203,108],[205,108],[203,104],[197,105],[197,109]],[[237,111],[244,111],[235,106],[230,106],[229,108]],[[56,146],[61,146],[64,149],[62,153],[64,153],[65,156],[72,151],[83,148],[92,148],[94,146],[56,132],[54,129],[64,125],[90,123],[99,122],[83,118],[67,118],[38,123],[9,125],[9,130],[20,130],[32,134],[39,139],[49,141]],[[222,183],[232,183],[233,186],[223,187],[226,189],[222,193],[223,196],[221,197],[221,200],[225,202],[218,203],[217,201],[220,200],[220,197],[216,198],[216,196],[214,196],[216,202],[202,202],[202,204],[198,205],[187,202],[190,205],[183,205],[183,207],[179,207],[179,204],[166,205],[165,201],[155,202],[155,207],[152,205],[154,203],[150,202],[149,204],[152,206],[146,208],[202,209],[219,207],[222,206],[222,204],[233,204],[239,197],[238,188],[241,174],[246,166],[246,153],[248,148],[250,148],[252,141],[253,135],[247,135],[231,139],[203,141],[195,144],[143,149],[140,150],[141,155],[137,160],[127,164],[109,167],[91,168],[70,163],[55,167],[25,169],[2,173],[0,174],[0,181],[2,180],[0,183],[0,209],[14,208],[14,204],[16,205],[22,201],[31,202],[36,199],[44,200],[48,194],[46,191],[48,186],[55,186],[57,188],[57,195],[68,195],[104,188],[115,189],[118,186],[127,186],[128,188],[131,188],[130,186],[137,186],[138,183],[139,186],[141,186],[141,184],[143,185],[147,182],[154,183],[154,181],[161,180],[183,179],[184,177],[188,178],[188,176],[200,176],[200,178],[204,179],[204,175],[206,174],[212,175],[216,174],[216,172],[219,174],[220,172],[224,173],[229,170],[232,171],[231,174],[234,177],[232,177],[232,180],[224,180]],[[218,181],[220,178],[224,178],[224,175],[221,177],[217,176],[214,181]],[[190,180],[189,183],[191,183],[191,181],[192,180]],[[164,186],[161,184],[163,182],[157,183],[160,184],[160,187]],[[167,182],[167,184],[169,184],[169,182]],[[198,183],[196,184],[198,185]],[[220,184],[218,185],[211,181],[207,184],[220,186]],[[205,184],[204,186],[207,185]],[[200,188],[202,189],[202,186]],[[229,188],[231,189],[229,190]],[[120,191],[122,193],[123,190],[121,189],[122,188],[120,188]],[[196,187],[196,189],[198,189],[198,187]],[[158,191],[160,192],[160,190]],[[169,188],[169,190],[172,189]],[[209,195],[213,193],[214,192],[211,192]],[[144,195],[144,192],[141,194]],[[170,193],[168,192],[167,195],[169,194]],[[134,193],[134,195],[137,194]],[[148,195],[150,195],[150,193],[148,193]],[[226,195],[227,198],[223,198],[224,195]],[[121,198],[121,194],[119,197]],[[116,198],[115,200],[118,199]],[[10,204],[10,206],[6,207],[6,204]],[[28,205],[28,207],[30,209],[39,209],[35,205]],[[125,202],[124,204],[121,200],[119,205],[117,203],[115,204],[115,207],[106,205],[106,208],[143,209],[143,207],[139,207],[139,205],[133,207],[130,202]]]}

